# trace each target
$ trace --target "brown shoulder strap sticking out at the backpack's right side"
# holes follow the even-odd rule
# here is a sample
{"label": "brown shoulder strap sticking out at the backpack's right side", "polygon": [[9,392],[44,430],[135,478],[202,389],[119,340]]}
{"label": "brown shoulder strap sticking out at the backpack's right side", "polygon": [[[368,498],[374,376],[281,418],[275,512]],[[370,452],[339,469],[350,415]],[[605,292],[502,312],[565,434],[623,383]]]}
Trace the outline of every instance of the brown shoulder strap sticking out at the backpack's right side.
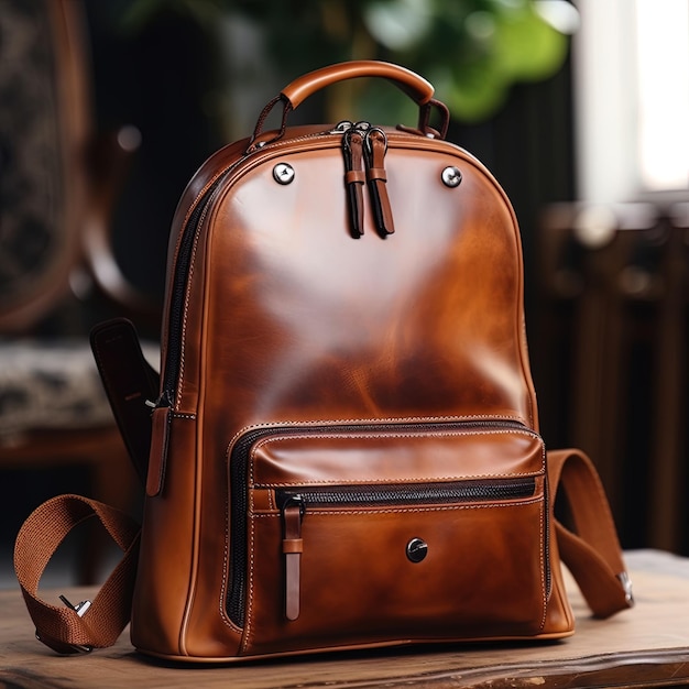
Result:
{"label": "brown shoulder strap sticking out at the backpack's right side", "polygon": [[581,450],[548,452],[548,480],[557,503],[565,493],[573,529],[555,521],[560,558],[597,617],[634,604],[615,523],[593,462]]}

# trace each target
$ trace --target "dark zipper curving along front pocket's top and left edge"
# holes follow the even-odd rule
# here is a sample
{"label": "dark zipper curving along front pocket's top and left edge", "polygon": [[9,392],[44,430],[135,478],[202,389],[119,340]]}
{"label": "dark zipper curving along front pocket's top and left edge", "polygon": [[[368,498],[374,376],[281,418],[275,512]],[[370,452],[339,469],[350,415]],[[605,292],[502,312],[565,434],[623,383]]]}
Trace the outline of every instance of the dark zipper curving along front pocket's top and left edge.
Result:
{"label": "dark zipper curving along front pocket's top and left edge", "polygon": [[[324,424],[324,425],[294,425],[271,426],[249,430],[242,435],[232,447],[229,457],[230,479],[230,572],[227,595],[227,613],[230,620],[239,627],[244,624],[245,569],[247,569],[247,507],[248,507],[248,471],[249,453],[253,445],[262,438],[273,435],[292,436],[319,433],[338,435],[365,433],[419,433],[448,430],[481,430],[481,429],[512,429],[531,433],[534,430],[524,424],[512,419],[464,419],[445,423],[380,423],[380,424]],[[314,491],[315,492],[315,491]],[[547,547],[547,544],[546,544]],[[546,560],[547,561],[547,560]]]}

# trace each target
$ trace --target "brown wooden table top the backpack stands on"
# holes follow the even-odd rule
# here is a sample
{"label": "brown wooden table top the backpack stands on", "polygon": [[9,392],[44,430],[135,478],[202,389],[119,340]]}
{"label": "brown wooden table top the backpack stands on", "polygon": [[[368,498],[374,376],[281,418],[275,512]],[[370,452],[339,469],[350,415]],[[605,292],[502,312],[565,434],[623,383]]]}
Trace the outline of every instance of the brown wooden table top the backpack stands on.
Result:
{"label": "brown wooden table top the backpack stands on", "polygon": [[[116,646],[59,657],[35,641],[19,590],[0,593],[0,689],[176,687],[668,687],[689,685],[689,559],[627,554],[636,606],[589,617],[570,582],[577,633],[550,644],[405,648],[254,661],[172,666]],[[88,595],[73,591],[74,599]],[[44,594],[47,600],[47,595]]]}

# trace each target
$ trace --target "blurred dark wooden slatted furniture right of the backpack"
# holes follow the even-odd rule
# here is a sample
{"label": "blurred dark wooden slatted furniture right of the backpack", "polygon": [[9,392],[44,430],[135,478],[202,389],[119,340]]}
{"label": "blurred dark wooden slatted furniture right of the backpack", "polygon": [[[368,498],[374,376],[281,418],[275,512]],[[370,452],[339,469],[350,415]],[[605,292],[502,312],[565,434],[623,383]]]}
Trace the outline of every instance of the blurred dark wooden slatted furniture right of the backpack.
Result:
{"label": "blurred dark wooden slatted furniture right of the backpack", "polygon": [[689,204],[555,205],[538,247],[546,440],[591,456],[624,547],[687,555]]}

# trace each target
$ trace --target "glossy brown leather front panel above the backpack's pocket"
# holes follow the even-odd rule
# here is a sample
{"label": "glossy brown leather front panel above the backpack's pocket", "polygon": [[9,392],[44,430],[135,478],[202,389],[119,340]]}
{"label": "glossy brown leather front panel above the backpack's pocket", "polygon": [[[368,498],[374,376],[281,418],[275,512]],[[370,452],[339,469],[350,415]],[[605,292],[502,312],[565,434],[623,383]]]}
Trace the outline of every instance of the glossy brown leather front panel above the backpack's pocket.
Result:
{"label": "glossy brown leather front panel above the backpack's pocket", "polygon": [[[468,157],[462,185],[448,189],[440,174],[455,157],[392,150],[398,229],[381,240],[369,223],[354,241],[337,153],[281,151],[209,216],[205,347],[239,426],[477,414],[534,426],[518,237],[499,189]],[[284,161],[296,177],[283,187],[272,168]]]}

